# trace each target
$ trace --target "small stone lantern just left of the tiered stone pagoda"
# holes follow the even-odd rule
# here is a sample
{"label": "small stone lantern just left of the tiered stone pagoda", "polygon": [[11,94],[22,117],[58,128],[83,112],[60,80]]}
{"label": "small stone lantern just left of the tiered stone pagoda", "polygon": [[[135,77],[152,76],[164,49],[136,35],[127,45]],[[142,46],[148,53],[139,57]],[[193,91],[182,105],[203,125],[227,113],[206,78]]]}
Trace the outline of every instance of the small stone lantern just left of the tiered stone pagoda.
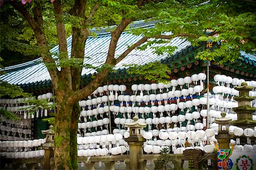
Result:
{"label": "small stone lantern just left of the tiered stone pagoda", "polygon": [[221,118],[216,118],[214,122],[218,124],[218,148],[219,149],[229,149],[229,143],[231,135],[229,134],[229,125],[232,122],[231,118],[226,118],[226,113],[221,113]]}

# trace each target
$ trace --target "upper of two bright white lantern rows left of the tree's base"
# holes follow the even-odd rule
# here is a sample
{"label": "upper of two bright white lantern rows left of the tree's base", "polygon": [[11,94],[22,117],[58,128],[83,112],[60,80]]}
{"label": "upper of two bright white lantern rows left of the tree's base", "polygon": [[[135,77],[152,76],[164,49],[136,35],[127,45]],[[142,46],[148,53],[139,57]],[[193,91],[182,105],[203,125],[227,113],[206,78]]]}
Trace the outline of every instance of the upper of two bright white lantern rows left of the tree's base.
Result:
{"label": "upper of two bright white lantern rows left of the tree's base", "polygon": [[44,139],[34,139],[28,141],[0,141],[0,148],[3,147],[39,147],[43,143],[46,143],[46,138]]}

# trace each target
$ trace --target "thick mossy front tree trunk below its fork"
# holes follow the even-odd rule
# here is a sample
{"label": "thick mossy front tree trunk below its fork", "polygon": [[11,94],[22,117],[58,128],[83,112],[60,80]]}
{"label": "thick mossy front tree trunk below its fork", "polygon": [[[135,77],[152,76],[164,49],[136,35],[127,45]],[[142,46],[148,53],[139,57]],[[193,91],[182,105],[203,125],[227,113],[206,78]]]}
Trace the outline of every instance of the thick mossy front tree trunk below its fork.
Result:
{"label": "thick mossy front tree trunk below its fork", "polygon": [[[71,141],[71,113],[72,106],[67,105],[62,93],[61,97],[57,98],[57,114],[55,117],[55,165],[57,169],[73,169],[70,158],[70,141]],[[62,100],[60,100],[62,98]]]}

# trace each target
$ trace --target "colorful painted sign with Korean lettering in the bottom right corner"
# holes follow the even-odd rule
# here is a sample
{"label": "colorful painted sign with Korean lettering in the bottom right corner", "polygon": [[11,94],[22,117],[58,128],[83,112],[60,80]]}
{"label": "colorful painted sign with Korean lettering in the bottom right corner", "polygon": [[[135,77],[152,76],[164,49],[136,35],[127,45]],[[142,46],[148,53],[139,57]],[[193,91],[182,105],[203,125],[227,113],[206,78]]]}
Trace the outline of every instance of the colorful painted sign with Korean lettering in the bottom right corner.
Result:
{"label": "colorful painted sign with Korean lettering in the bottom right corner", "polygon": [[254,151],[218,150],[218,169],[256,169],[256,154]]}

